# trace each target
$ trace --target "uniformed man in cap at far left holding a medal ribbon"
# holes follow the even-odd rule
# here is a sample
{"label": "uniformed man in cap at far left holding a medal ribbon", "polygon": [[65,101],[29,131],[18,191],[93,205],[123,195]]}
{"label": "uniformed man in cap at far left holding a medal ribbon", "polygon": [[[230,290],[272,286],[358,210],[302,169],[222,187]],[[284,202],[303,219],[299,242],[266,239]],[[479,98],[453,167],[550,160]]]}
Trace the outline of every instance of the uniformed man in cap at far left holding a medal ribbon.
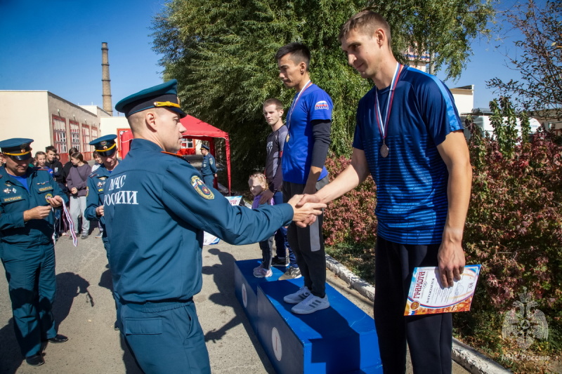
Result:
{"label": "uniformed man in cap at far left holding a medal ribbon", "polygon": [[55,300],[53,208],[67,201],[48,168],[32,168],[32,139],[0,142],[0,258],[12,300],[15,337],[25,361],[45,363],[41,341],[61,343],[51,312]]}

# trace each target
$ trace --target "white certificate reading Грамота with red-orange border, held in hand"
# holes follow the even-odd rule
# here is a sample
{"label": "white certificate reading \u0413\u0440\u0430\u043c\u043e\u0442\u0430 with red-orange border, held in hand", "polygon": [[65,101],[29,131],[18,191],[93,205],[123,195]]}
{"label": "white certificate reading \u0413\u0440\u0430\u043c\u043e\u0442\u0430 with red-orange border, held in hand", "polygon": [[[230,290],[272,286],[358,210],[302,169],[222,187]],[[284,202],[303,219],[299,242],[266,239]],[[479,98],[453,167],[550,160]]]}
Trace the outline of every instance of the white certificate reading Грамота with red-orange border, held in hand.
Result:
{"label": "white certificate reading \u0413\u0440\u0430\u043c\u043e\u0442\u0430 with red-orange border, held in hand", "polygon": [[406,302],[405,316],[468,312],[481,265],[466,265],[459,281],[443,288],[438,267],[416,267]]}

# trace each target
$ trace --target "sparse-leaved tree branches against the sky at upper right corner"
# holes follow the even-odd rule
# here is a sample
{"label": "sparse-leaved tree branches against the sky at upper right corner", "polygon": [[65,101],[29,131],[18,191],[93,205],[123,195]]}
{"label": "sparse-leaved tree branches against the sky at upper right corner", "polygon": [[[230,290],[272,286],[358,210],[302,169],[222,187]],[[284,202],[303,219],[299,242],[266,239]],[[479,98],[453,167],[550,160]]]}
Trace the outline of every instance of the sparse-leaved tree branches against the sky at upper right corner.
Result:
{"label": "sparse-leaved tree branches against the sky at upper right corner", "polygon": [[[496,92],[511,96],[518,109],[550,109],[551,116],[562,115],[562,3],[547,0],[540,7],[533,0],[516,4],[506,15],[523,40],[515,42],[518,56],[507,55],[511,69],[521,79],[487,81]],[[547,114],[541,112],[543,114]]]}

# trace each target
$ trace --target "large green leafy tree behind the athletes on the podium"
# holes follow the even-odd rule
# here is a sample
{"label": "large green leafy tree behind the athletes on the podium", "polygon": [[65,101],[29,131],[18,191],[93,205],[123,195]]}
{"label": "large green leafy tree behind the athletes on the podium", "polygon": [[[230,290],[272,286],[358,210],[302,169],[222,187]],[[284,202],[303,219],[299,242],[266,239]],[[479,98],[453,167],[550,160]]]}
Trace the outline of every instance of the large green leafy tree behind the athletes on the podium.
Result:
{"label": "large green leafy tree behind the athletes on the podium", "polygon": [[[349,154],[358,100],[372,83],[347,65],[339,28],[365,0],[174,0],[153,22],[154,49],[166,78],[179,81],[183,107],[230,133],[238,182],[263,168],[268,126],[261,103],[277,97],[289,108],[294,92],[277,79],[278,48],[302,41],[312,51],[311,77],[334,101],[331,150]],[[460,74],[470,39],[485,32],[491,8],[480,0],[377,2],[393,25],[393,50],[419,46],[434,67]]]}

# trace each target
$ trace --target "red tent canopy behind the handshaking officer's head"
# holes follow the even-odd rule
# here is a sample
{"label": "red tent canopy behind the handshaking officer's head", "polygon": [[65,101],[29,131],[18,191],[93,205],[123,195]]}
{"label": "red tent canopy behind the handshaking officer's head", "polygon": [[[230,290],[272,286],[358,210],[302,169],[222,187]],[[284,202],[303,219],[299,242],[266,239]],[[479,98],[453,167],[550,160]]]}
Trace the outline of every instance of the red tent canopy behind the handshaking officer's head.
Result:
{"label": "red tent canopy behind the handshaking officer's head", "polygon": [[[228,194],[230,195],[230,138],[228,138],[228,133],[189,114],[180,121],[187,128],[187,131],[183,133],[183,138],[207,140],[209,148],[211,148],[211,154],[215,154],[215,138],[223,138],[225,140],[226,173],[228,175]],[[131,131],[123,131],[119,133],[119,138],[121,140],[119,152],[122,152],[122,157],[124,157],[129,152],[129,142],[133,139],[133,134]]]}

